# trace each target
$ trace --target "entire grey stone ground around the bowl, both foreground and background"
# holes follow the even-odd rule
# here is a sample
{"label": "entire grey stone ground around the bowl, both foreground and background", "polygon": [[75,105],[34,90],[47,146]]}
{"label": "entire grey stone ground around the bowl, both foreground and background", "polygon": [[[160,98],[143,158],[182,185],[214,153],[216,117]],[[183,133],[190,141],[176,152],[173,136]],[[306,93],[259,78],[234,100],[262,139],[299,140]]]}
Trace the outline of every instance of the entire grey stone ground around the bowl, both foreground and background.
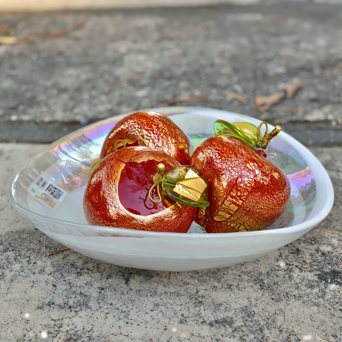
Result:
{"label": "entire grey stone ground around the bowl, both foreground and background", "polygon": [[[267,4],[0,15],[18,37],[84,23],[58,39],[0,45],[0,141],[24,142],[0,144],[1,342],[342,341],[342,4]],[[293,99],[253,110],[254,96],[297,80],[304,89]],[[336,196],[329,216],[278,251],[211,271],[129,269],[70,250],[48,256],[63,246],[7,195],[14,174],[46,146],[27,142],[201,95],[208,99],[183,104],[281,121],[320,146],[311,150]]]}

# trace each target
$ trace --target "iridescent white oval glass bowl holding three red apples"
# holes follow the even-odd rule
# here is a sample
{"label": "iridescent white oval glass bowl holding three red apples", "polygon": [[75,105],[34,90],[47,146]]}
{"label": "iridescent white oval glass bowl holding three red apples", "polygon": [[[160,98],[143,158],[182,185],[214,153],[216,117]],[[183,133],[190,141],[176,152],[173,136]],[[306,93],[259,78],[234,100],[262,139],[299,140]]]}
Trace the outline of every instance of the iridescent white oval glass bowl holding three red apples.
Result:
{"label": "iridescent white oval glass bowl holding three red apples", "polygon": [[[217,119],[260,123],[210,108],[153,110],[168,115],[190,136],[194,148],[213,135]],[[110,129],[128,114],[68,134],[36,156],[11,184],[10,200],[16,209],[41,232],[81,254],[120,266],[161,271],[218,268],[260,257],[298,239],[330,212],[334,194],[326,170],[307,148],[282,131],[267,154],[287,174],[291,196],[285,212],[266,230],[207,234],[193,223],[187,234],[181,234],[89,225],[83,214],[83,194],[90,169]],[[42,185],[50,196],[41,192]]]}

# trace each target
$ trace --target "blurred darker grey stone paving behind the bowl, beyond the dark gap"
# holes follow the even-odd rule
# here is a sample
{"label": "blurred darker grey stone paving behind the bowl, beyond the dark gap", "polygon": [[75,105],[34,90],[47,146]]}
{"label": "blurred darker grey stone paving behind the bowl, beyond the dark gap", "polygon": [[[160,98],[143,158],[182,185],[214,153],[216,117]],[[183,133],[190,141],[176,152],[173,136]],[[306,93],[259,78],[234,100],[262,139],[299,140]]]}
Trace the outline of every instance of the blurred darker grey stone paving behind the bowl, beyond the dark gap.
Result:
{"label": "blurred darker grey stone paving behind the bowl, beyond the dark gap", "polygon": [[[85,124],[170,99],[207,96],[184,103],[271,122],[341,124],[341,11],[342,4],[281,1],[2,14],[17,37],[70,31],[32,44],[0,45],[0,120]],[[118,81],[123,83],[113,83]],[[304,89],[294,98],[265,113],[253,109],[255,96],[297,81]]]}

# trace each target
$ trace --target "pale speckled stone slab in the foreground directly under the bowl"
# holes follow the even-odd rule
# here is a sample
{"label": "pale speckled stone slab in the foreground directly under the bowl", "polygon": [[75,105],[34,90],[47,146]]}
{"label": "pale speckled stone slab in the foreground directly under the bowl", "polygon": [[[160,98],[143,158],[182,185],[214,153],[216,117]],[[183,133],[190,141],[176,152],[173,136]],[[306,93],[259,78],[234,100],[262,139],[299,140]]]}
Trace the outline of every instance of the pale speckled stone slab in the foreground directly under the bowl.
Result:
{"label": "pale speckled stone slab in the foreground directly under the bowl", "polygon": [[341,341],[342,148],[311,149],[336,196],[316,228],[251,262],[180,273],[48,256],[63,246],[7,198],[44,147],[0,144],[0,341]]}

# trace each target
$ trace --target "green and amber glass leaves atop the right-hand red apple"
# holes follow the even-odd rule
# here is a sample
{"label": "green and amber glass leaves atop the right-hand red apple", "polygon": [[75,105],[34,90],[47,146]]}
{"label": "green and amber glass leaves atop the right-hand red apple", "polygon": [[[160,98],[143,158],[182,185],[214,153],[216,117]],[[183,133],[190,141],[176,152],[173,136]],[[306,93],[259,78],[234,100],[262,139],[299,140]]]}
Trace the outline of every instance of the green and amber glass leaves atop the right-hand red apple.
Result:
{"label": "green and amber glass leaves atop the right-hand red apple", "polygon": [[245,143],[261,147],[257,138],[257,126],[248,122],[229,123],[224,120],[216,120],[214,123],[215,135],[235,136]]}

